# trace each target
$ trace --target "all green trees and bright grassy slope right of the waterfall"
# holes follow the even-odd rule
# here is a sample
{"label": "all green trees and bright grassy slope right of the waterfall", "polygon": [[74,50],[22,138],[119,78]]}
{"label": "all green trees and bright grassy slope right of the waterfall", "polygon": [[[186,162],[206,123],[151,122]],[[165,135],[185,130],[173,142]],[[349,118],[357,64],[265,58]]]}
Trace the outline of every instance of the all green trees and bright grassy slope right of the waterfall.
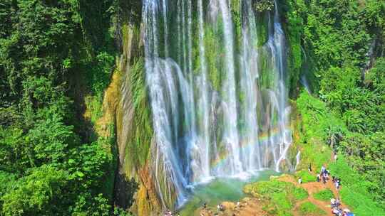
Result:
{"label": "all green trees and bright grassy slope right of the waterfall", "polygon": [[385,1],[283,4],[290,53],[319,98],[302,93],[297,99],[302,168],[312,163],[318,170],[337,151],[341,160],[329,166],[343,179],[342,200],[359,215],[374,214],[361,207],[380,210],[385,203]]}

